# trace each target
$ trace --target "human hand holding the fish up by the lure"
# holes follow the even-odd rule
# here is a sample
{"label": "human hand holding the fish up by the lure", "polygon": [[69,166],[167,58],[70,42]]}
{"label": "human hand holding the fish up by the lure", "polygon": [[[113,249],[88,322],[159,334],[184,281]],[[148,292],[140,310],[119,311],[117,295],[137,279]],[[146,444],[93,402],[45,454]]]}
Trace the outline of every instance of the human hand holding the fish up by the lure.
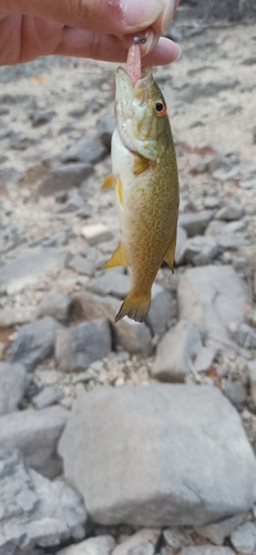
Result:
{"label": "human hand holding the fish up by the lure", "polygon": [[174,61],[180,48],[158,34],[178,0],[0,0],[0,65],[61,54],[124,62],[134,36],[143,62]]}

